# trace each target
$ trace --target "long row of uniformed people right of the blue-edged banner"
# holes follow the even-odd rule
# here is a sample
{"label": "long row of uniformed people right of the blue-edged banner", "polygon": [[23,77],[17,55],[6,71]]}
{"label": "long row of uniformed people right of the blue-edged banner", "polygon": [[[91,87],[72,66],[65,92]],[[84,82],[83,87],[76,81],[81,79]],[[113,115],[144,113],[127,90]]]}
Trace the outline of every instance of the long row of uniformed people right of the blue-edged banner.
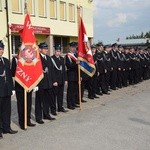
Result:
{"label": "long row of uniformed people right of the blue-edged banner", "polygon": [[[109,91],[137,84],[150,78],[150,51],[122,47],[116,43],[91,46],[96,74],[87,81],[89,98],[110,94]],[[94,84],[93,84],[94,83]]]}

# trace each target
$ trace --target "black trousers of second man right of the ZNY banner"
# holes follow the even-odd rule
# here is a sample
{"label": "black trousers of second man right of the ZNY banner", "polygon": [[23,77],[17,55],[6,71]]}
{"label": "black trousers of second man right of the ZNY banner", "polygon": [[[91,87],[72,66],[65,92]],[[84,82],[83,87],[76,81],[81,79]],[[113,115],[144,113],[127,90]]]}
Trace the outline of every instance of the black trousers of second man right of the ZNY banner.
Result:
{"label": "black trousers of second man right of the ZNY banner", "polygon": [[54,86],[54,102],[55,102],[55,106],[53,111],[56,112],[56,101],[57,101],[57,107],[58,110],[62,110],[63,109],[63,94],[64,94],[64,84],[58,85],[58,86]]}

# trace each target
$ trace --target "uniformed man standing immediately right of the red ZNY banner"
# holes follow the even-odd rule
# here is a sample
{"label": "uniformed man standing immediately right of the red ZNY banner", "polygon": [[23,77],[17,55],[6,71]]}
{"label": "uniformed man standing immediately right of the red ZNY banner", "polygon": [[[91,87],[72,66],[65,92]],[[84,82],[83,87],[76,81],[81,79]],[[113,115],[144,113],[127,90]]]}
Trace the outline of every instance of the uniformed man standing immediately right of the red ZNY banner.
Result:
{"label": "uniformed man standing immediately right of the red ZNY banner", "polygon": [[55,120],[55,118],[51,117],[49,109],[51,108],[51,112],[54,111],[53,106],[55,105],[55,102],[53,86],[57,86],[58,83],[55,80],[55,72],[51,57],[47,55],[47,43],[40,43],[39,48],[44,78],[38,84],[39,90],[36,92],[35,118],[37,123],[43,124],[44,121],[42,120],[42,118]]}

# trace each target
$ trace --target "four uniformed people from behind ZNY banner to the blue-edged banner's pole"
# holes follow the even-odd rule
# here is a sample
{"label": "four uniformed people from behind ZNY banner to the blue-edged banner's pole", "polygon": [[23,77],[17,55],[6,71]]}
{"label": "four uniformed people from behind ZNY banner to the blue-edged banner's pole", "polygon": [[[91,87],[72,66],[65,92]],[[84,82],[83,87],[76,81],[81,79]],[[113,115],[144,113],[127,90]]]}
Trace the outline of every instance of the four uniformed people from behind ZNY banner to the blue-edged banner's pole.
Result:
{"label": "four uniformed people from behind ZNY banner to the blue-edged banner's pole", "polygon": [[[44,78],[31,92],[27,93],[27,126],[34,127],[36,124],[31,122],[32,93],[35,91],[35,120],[43,124],[43,119],[55,120],[53,116],[58,112],[67,112],[63,106],[64,85],[67,85],[67,108],[75,109],[79,107],[78,100],[78,60],[76,56],[76,42],[69,44],[69,53],[63,58],[61,56],[61,46],[55,46],[53,56],[49,56],[48,44],[40,43],[39,52],[42,62]],[[21,44],[19,45],[19,49]],[[15,76],[18,58],[12,59],[11,71]],[[18,122],[24,130],[24,89],[15,82],[17,99]],[[82,100],[82,102],[86,102]]]}

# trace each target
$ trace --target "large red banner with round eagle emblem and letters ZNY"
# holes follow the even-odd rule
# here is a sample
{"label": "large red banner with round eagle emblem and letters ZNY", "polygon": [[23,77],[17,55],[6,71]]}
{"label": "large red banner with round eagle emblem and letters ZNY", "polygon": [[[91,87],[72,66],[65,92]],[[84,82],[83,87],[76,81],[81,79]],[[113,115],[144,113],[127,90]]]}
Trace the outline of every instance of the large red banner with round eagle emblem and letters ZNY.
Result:
{"label": "large red banner with round eagle emblem and letters ZNY", "polygon": [[22,46],[15,80],[27,92],[30,92],[43,78],[43,69],[29,14],[25,17],[24,28],[20,31],[20,36]]}

